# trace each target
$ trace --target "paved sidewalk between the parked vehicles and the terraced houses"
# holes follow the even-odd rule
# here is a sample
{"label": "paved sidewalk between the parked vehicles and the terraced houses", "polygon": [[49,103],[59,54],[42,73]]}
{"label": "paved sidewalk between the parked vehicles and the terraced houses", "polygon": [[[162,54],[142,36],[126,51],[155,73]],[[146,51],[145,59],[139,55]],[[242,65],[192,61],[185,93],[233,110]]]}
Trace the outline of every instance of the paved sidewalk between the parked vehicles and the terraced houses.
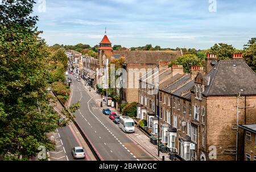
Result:
{"label": "paved sidewalk between the parked vehicles and the terraced houses", "polygon": [[[84,81],[82,81],[84,83]],[[89,86],[85,86],[85,89],[89,92]],[[117,113],[117,110],[115,108],[109,107],[106,105],[106,101],[103,101],[100,94],[97,94],[94,89],[90,89],[90,95],[94,98],[96,101],[96,104],[98,105],[99,109],[109,108],[111,111],[114,111]],[[100,108],[102,101],[102,108]],[[120,115],[120,114],[119,114]],[[146,136],[139,128],[135,128],[134,134],[127,134],[127,136],[135,142],[135,144],[138,144],[146,153],[150,154],[150,156],[154,157],[158,161],[162,161],[162,157],[164,156],[165,161],[170,161],[170,158],[167,153],[160,152],[160,156],[158,157],[158,145],[153,145],[150,142],[150,138]]]}

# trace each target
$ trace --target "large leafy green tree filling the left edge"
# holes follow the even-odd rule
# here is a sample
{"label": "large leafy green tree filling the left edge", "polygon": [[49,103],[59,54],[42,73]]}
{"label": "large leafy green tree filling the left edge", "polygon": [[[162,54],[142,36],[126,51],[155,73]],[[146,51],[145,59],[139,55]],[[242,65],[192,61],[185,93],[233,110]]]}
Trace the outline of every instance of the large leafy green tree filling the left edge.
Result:
{"label": "large leafy green tree filling the left edge", "polygon": [[49,105],[50,53],[35,29],[37,17],[30,16],[34,3],[3,0],[0,5],[0,155],[5,160],[29,160],[39,146],[54,148],[46,134],[56,130],[59,115]]}

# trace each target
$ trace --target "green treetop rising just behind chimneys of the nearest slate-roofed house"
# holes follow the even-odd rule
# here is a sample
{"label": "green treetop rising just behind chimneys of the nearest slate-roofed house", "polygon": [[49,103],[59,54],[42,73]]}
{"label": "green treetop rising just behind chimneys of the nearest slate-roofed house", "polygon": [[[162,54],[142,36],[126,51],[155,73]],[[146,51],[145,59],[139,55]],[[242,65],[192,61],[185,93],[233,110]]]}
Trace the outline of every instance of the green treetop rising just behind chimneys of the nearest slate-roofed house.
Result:
{"label": "green treetop rising just behind chimneys of the nearest slate-roofed house", "polygon": [[214,46],[210,48],[210,53],[216,54],[218,60],[232,59],[235,50],[232,45],[220,43],[214,44]]}

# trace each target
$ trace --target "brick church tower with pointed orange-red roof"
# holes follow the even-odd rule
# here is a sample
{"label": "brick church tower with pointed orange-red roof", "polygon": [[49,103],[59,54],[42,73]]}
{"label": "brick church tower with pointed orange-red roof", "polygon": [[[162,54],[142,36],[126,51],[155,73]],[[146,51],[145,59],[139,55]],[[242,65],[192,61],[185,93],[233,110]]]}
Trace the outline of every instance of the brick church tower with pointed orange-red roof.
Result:
{"label": "brick church tower with pointed orange-red roof", "polygon": [[113,54],[112,43],[109,41],[106,31],[100,42],[100,48],[98,50],[100,57],[100,68],[102,68],[106,65],[106,59],[108,58],[110,60],[110,57],[112,57]]}

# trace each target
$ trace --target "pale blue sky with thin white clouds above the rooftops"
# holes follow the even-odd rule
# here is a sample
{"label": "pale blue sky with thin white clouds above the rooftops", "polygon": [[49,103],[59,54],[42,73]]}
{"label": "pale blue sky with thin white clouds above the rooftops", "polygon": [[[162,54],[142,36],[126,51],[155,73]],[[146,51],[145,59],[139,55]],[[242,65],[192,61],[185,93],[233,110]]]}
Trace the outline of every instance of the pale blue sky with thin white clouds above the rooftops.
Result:
{"label": "pale blue sky with thin white clouds above the rooftops", "polygon": [[105,34],[126,48],[237,49],[256,37],[255,0],[35,0],[48,45],[97,45]]}

